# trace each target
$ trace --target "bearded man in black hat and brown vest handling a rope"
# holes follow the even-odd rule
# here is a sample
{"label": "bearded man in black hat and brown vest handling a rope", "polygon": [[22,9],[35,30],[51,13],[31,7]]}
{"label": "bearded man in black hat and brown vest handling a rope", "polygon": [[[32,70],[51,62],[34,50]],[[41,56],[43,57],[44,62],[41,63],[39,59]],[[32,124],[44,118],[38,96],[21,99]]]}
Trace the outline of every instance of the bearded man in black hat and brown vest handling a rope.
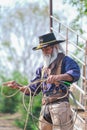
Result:
{"label": "bearded man in black hat and brown vest handling a rope", "polygon": [[[31,81],[36,83],[28,86],[32,94],[43,93],[40,130],[73,130],[67,82],[79,80],[80,68],[73,59],[59,52],[59,44],[62,42],[64,40],[56,40],[53,33],[48,33],[40,36],[39,45],[33,48],[41,49],[44,59],[43,66],[36,70],[36,77]],[[22,92],[26,89],[26,86],[20,87],[12,81],[5,85]],[[30,90],[26,89],[25,94],[29,95]]]}

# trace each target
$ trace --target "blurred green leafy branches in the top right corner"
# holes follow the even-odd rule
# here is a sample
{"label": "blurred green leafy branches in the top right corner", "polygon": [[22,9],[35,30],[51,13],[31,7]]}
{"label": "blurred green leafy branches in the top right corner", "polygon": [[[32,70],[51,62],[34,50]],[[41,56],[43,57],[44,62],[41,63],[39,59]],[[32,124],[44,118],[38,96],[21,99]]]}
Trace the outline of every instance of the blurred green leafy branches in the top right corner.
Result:
{"label": "blurred green leafy branches in the top right corner", "polygon": [[74,30],[79,30],[78,32],[80,34],[85,33],[86,30],[84,25],[87,23],[87,0],[63,0],[63,2],[64,4],[71,5],[77,10],[77,16],[71,21],[70,26],[73,27]]}

